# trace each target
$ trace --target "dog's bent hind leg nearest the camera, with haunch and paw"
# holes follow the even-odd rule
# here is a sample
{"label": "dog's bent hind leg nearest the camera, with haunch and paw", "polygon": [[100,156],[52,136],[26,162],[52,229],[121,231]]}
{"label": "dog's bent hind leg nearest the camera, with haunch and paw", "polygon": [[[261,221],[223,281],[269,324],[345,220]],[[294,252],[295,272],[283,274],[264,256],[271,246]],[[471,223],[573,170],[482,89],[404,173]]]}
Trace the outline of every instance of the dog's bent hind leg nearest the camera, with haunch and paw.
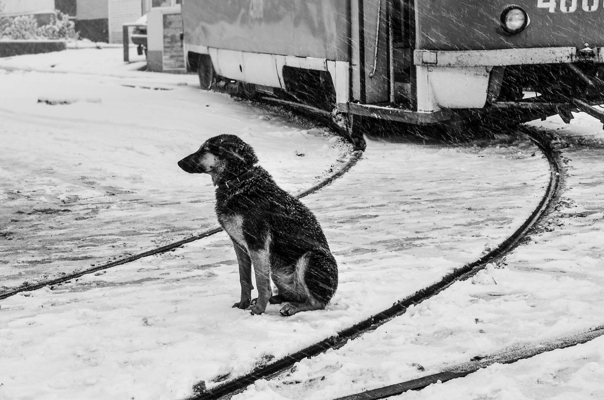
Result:
{"label": "dog's bent hind leg nearest the camera, with haunch and paw", "polygon": [[338,288],[338,264],[329,251],[309,251],[298,260],[294,290],[303,302],[290,302],[281,308],[281,315],[301,311],[322,310]]}

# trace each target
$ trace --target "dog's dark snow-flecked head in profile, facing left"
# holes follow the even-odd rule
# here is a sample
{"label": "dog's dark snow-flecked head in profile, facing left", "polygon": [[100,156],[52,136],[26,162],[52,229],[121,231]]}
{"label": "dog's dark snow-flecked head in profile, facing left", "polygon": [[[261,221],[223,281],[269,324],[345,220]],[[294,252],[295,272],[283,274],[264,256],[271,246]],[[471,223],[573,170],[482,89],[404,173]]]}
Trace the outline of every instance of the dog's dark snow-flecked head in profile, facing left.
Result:
{"label": "dog's dark snow-flecked head in profile, facing left", "polygon": [[216,180],[225,174],[240,175],[257,162],[252,146],[238,136],[218,135],[206,140],[199,150],[178,161],[178,166],[188,173],[209,173]]}

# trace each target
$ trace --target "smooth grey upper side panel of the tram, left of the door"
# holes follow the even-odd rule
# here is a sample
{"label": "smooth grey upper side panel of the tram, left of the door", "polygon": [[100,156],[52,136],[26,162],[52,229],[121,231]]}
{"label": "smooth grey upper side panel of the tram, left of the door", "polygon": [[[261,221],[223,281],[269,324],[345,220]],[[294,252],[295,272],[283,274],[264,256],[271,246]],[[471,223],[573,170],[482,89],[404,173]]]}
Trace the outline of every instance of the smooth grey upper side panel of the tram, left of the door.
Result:
{"label": "smooth grey upper side panel of the tram, left of the door", "polygon": [[282,56],[348,60],[347,0],[184,1],[185,42]]}

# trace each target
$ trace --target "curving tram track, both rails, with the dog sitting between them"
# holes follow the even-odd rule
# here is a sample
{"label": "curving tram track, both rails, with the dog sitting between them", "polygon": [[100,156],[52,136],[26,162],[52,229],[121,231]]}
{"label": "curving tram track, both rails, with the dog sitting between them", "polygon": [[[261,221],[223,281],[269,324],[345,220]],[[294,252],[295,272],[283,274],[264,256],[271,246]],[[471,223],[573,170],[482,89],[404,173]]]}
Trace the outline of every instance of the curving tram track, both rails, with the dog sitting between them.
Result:
{"label": "curving tram track, both rails, with the dog sitting between them", "polygon": [[[286,104],[285,106],[292,106],[292,105]],[[313,111],[312,109],[303,110],[303,112],[312,112],[312,111]],[[327,116],[327,115],[323,115],[323,117],[326,120],[329,119],[329,116]],[[375,314],[372,317],[367,318],[351,327],[348,327],[347,329],[344,329],[344,330],[338,332],[338,334],[336,334],[332,337],[326,338],[318,343],[312,344],[311,346],[306,347],[305,349],[300,350],[296,353],[292,353],[291,355],[285,356],[284,358],[281,358],[280,360],[272,361],[271,363],[269,363],[265,366],[258,367],[257,369],[252,370],[251,372],[249,372],[248,374],[246,374],[244,376],[240,376],[239,378],[235,378],[230,381],[223,382],[222,384],[216,385],[207,390],[205,390],[205,389],[200,390],[200,393],[196,393],[196,395],[193,395],[193,396],[187,398],[187,400],[230,398],[234,394],[241,392],[249,384],[254,383],[258,379],[271,378],[272,376],[277,376],[280,373],[291,368],[292,366],[294,366],[295,363],[303,360],[304,358],[310,358],[310,357],[316,356],[329,349],[337,349],[339,347],[342,347],[348,341],[355,340],[356,338],[360,337],[361,335],[365,334],[366,332],[373,331],[374,329],[376,329],[376,327],[378,327],[384,323],[387,323],[388,321],[390,321],[393,318],[396,318],[399,315],[404,314],[406,312],[406,309],[408,309],[410,306],[422,303],[423,301],[427,300],[428,298],[431,298],[434,295],[439,294],[439,292],[442,292],[443,290],[448,288],[452,283],[457,282],[459,280],[467,279],[468,277],[471,277],[473,274],[480,271],[480,269],[483,269],[488,263],[497,262],[497,260],[500,260],[507,253],[512,251],[513,248],[518,246],[518,244],[521,242],[522,238],[525,237],[526,234],[533,227],[535,227],[536,224],[538,224],[538,222],[543,218],[543,216],[551,208],[552,203],[554,202],[554,199],[556,198],[556,193],[559,190],[559,187],[561,185],[562,167],[561,167],[560,161],[557,160],[557,157],[554,154],[554,149],[552,149],[548,145],[547,138],[538,137],[536,132],[525,132],[525,133],[527,133],[532,138],[533,142],[542,150],[542,152],[547,157],[548,162],[550,163],[550,169],[551,169],[550,182],[548,184],[548,187],[547,187],[547,190],[545,191],[544,196],[542,197],[541,201],[539,202],[538,207],[535,208],[535,210],[533,211],[530,218],[528,218],[524,222],[524,224],[522,224],[522,226],[520,228],[518,228],[518,230],[516,230],[512,234],[512,236],[510,236],[508,239],[504,240],[504,242],[501,243],[497,248],[490,251],[488,254],[484,255],[480,259],[478,259],[472,263],[466,264],[466,265],[462,266],[461,268],[455,269],[454,271],[452,271],[451,273],[449,273],[445,277],[443,277],[439,282],[434,283],[433,285],[427,286],[426,288],[420,289],[419,291],[415,292],[413,295],[394,303],[394,305],[391,306],[390,308],[385,309],[384,311],[379,312],[378,314]],[[342,176],[346,172],[348,172],[353,166],[355,166],[355,164],[361,159],[361,157],[362,157],[362,152],[360,152],[360,151],[354,152],[353,155],[351,156],[350,160],[344,166],[342,166],[341,169],[339,169],[337,172],[333,173],[332,175],[328,176],[326,179],[319,182],[318,184],[314,185],[310,189],[307,189],[307,190],[304,190],[303,192],[298,193],[296,195],[296,197],[303,198],[304,196],[310,195],[310,194],[316,192],[317,190],[320,190],[321,188],[329,185],[335,179],[338,179],[340,176]],[[133,261],[141,259],[143,257],[149,257],[149,256],[152,256],[155,254],[165,253],[167,251],[181,247],[184,244],[188,244],[195,240],[203,239],[204,237],[208,237],[213,234],[219,233],[220,231],[222,231],[222,228],[220,228],[220,227],[210,228],[210,229],[202,232],[201,234],[187,237],[187,238],[179,240],[177,242],[173,242],[171,244],[168,244],[168,245],[165,245],[162,247],[154,248],[152,250],[145,251],[143,253],[134,254],[134,255],[132,255],[130,257],[126,257],[124,259],[116,260],[114,262],[106,263],[103,265],[97,265],[97,266],[94,266],[93,268],[88,268],[83,271],[78,271],[77,273],[73,273],[73,274],[69,274],[67,276],[60,277],[59,279],[48,280],[45,282],[36,283],[35,285],[28,285],[28,286],[20,287],[11,292],[5,292],[3,294],[0,294],[0,299],[4,299],[4,298],[10,297],[12,295],[16,295],[20,292],[32,291],[35,289],[43,288],[45,286],[52,286],[52,285],[57,285],[60,283],[65,283],[65,282],[68,282],[69,280],[77,279],[86,274],[96,273],[103,269],[109,269],[109,268],[112,268],[112,267],[118,266],[118,265],[124,265],[126,263],[133,262]],[[468,373],[471,373],[471,372],[468,372]],[[466,373],[466,375],[467,375],[467,373]],[[454,376],[454,375],[451,375],[451,376]],[[364,397],[359,397],[359,398],[364,398]]]}

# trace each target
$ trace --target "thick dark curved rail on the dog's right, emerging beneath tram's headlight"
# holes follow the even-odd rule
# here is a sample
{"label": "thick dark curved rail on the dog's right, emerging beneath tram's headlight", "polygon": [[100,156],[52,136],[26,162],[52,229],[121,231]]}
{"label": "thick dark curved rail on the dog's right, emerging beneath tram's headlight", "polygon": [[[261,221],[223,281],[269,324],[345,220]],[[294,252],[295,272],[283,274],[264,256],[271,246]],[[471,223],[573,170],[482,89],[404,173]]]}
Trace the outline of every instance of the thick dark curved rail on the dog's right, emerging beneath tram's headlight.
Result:
{"label": "thick dark curved rail on the dog's right, emerging beneath tram's headlight", "polygon": [[[519,227],[506,240],[504,240],[498,247],[489,251],[489,253],[480,257],[480,259],[455,269],[439,280],[439,282],[433,283],[430,286],[426,286],[425,288],[416,291],[413,295],[397,301],[390,308],[385,309],[384,311],[379,312],[359,323],[356,323],[353,326],[338,332],[338,334],[333,335],[332,337],[325,338],[324,340],[318,341],[317,343],[299,350],[298,352],[287,355],[279,360],[272,361],[264,366],[257,367],[246,375],[223,382],[211,387],[210,389],[205,389],[204,384],[198,393],[188,397],[186,400],[231,398],[237,393],[242,392],[248,385],[253,384],[259,379],[271,379],[283,372],[286,372],[286,370],[290,369],[295,363],[298,363],[304,358],[312,358],[313,356],[317,356],[329,349],[338,349],[339,347],[345,346],[345,344],[350,340],[355,340],[367,332],[374,331],[374,329],[382,324],[387,323],[393,318],[405,314],[406,310],[410,306],[418,305],[419,303],[434,297],[451,286],[452,283],[469,279],[469,277],[474,276],[474,274],[478,273],[478,271],[481,269],[484,269],[489,263],[496,263],[503,259],[506,254],[518,247],[524,237],[526,237],[527,234],[529,234],[536,227],[539,221],[541,221],[544,216],[553,209],[559,196],[559,190],[562,187],[562,161],[557,156],[556,150],[550,145],[550,138],[539,134],[539,132],[531,131],[530,129],[524,129],[524,133],[528,135],[528,137],[533,141],[533,143],[535,143],[536,146],[539,147],[541,152],[547,158],[548,163],[550,164],[550,179],[541,201],[539,201],[538,206],[535,208],[535,210],[533,210],[529,218],[527,218],[521,227]],[[457,372],[451,373],[452,378],[456,377],[455,373]],[[363,397],[364,393],[359,393],[356,396],[359,397],[351,397],[350,399],[365,399],[365,397]]]}

